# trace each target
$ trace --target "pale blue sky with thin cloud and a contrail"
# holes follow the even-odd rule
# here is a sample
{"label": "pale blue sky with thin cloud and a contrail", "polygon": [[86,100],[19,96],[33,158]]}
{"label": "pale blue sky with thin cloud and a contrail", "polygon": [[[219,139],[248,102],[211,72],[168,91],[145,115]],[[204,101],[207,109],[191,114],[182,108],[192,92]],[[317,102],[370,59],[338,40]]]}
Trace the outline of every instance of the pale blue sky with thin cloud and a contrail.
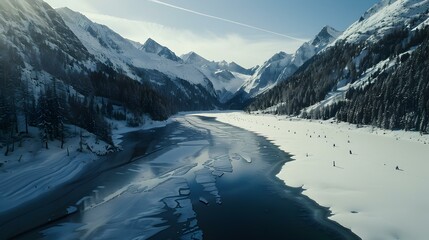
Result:
{"label": "pale blue sky with thin cloud and a contrail", "polygon": [[143,43],[151,37],[179,55],[195,51],[209,60],[251,67],[276,52],[293,53],[325,25],[345,30],[378,0],[46,2],[82,12],[132,40]]}

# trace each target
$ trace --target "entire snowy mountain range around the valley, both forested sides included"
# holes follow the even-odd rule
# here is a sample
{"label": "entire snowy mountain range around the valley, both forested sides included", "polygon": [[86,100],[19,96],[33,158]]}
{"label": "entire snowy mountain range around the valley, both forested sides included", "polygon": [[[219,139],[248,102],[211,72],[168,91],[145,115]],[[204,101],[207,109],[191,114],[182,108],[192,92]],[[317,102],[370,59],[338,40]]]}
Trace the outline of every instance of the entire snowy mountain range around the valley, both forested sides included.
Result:
{"label": "entire snowy mountain range around the valley, both forested sides included", "polygon": [[[8,110],[0,125],[18,122],[13,116],[54,84],[66,102],[76,98],[103,114],[109,102],[125,108],[126,119],[248,107],[427,131],[428,9],[429,0],[383,0],[346,31],[326,26],[295,53],[246,69],[195,52],[179,57],[156,36],[144,44],[125,39],[41,0],[2,0],[0,108]],[[22,95],[32,97],[14,100]]]}

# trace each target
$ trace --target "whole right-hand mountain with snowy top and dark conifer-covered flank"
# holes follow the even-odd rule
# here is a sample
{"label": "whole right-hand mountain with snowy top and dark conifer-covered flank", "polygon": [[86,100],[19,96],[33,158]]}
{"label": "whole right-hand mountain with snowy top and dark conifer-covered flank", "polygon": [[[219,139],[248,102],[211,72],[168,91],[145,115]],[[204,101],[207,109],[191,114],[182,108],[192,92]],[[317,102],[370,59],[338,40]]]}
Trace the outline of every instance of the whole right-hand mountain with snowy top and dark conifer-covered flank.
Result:
{"label": "whole right-hand mountain with snowy top and dark conifer-covered flank", "polygon": [[250,110],[429,131],[429,0],[382,0]]}

